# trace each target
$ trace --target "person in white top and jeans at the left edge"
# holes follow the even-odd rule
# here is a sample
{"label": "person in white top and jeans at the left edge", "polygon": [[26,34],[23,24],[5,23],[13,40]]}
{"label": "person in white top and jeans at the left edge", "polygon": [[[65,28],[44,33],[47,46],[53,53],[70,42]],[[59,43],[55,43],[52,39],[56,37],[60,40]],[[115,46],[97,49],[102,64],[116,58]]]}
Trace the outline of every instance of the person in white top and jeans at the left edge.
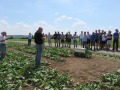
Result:
{"label": "person in white top and jeans at the left edge", "polygon": [[6,54],[5,40],[7,40],[6,32],[1,32],[1,36],[0,36],[0,60],[3,60],[5,58],[5,54]]}

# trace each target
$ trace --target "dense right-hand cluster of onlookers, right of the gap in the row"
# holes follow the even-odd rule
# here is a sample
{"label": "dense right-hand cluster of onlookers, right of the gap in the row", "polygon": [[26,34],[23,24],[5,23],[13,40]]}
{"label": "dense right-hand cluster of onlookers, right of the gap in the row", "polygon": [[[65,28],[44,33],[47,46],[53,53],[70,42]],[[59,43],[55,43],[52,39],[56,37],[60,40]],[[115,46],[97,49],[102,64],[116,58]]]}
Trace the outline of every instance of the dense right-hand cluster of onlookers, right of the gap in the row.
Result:
{"label": "dense right-hand cluster of onlookers, right of the gap in the row", "polygon": [[112,50],[118,51],[119,45],[119,31],[115,29],[115,32],[112,34],[109,30],[107,33],[104,30],[95,30],[92,32],[92,35],[89,32],[81,32],[80,34],[81,45],[86,47],[88,46],[91,50],[110,50],[113,41]]}

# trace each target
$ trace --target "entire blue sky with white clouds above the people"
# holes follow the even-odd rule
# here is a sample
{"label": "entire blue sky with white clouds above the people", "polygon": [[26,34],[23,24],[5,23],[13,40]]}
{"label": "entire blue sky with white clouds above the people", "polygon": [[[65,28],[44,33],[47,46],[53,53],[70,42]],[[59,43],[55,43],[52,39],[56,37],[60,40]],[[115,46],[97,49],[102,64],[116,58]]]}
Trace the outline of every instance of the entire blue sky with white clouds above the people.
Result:
{"label": "entire blue sky with white clouds above the people", "polygon": [[0,0],[0,31],[34,34],[55,31],[78,34],[120,29],[120,0]]}

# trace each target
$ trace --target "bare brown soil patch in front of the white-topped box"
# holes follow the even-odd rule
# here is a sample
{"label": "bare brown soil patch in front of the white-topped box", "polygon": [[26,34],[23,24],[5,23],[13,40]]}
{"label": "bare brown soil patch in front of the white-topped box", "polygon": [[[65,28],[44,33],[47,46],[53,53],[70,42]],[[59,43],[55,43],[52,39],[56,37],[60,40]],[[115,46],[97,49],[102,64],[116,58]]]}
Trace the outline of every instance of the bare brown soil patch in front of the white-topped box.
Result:
{"label": "bare brown soil patch in front of the white-topped box", "polygon": [[74,84],[95,81],[104,73],[120,69],[119,61],[107,60],[96,56],[93,56],[92,59],[72,56],[66,58],[64,62],[56,62],[49,59],[44,60],[50,63],[51,68],[56,68],[61,73],[67,72]]}

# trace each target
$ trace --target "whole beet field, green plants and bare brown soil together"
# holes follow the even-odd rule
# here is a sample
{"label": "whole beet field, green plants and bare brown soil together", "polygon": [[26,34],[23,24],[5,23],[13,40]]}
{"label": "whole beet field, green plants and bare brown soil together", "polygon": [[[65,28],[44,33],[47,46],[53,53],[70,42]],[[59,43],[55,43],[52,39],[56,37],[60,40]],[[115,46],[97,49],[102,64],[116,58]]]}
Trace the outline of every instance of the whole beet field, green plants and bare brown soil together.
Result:
{"label": "whole beet field, green plants and bare brown soil together", "polygon": [[34,45],[7,43],[0,90],[120,90],[120,56],[93,52],[78,58],[73,49],[45,46],[35,68],[35,52]]}

